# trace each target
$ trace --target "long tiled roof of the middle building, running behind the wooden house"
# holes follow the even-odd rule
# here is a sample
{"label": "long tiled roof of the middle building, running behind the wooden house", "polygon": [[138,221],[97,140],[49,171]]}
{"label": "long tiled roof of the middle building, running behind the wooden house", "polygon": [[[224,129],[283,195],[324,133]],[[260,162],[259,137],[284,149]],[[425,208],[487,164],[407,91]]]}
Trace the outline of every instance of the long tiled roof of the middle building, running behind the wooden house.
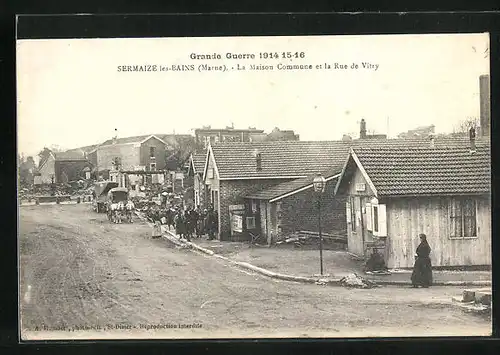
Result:
{"label": "long tiled roof of the middle building, running behind the wooden house", "polygon": [[[478,145],[488,145],[489,140]],[[468,147],[468,138],[436,138],[435,147]],[[354,141],[278,141],[217,143],[212,151],[221,179],[306,177],[327,169],[339,172],[350,147],[422,147],[428,139],[368,139]],[[257,170],[255,152],[260,152],[262,169]],[[383,156],[383,152],[380,153]]]}

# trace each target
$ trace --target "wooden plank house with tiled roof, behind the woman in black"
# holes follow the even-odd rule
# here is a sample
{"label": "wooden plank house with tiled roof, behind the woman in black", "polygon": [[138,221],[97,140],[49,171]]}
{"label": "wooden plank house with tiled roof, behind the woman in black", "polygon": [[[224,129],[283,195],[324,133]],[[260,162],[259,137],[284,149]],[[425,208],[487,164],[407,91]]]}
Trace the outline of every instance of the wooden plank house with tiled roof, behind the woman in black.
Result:
{"label": "wooden plank house with tiled roof, behind the woman in black", "polygon": [[419,234],[433,266],[491,264],[489,141],[452,148],[352,149],[336,186],[346,201],[348,250],[382,251],[410,268]]}

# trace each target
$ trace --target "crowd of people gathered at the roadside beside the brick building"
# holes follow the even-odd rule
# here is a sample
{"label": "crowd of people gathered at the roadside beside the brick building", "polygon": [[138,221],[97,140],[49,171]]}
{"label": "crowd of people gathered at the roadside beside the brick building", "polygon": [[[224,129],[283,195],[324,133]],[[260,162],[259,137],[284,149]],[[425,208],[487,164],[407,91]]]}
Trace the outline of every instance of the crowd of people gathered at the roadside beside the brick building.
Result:
{"label": "crowd of people gathered at the roadside beside the brick building", "polygon": [[174,229],[181,239],[201,238],[208,235],[209,240],[215,239],[218,228],[218,216],[213,207],[202,210],[200,206],[186,210],[182,208],[158,208],[148,211],[147,217],[155,223],[153,237],[161,236],[159,226],[166,225],[169,230]]}

